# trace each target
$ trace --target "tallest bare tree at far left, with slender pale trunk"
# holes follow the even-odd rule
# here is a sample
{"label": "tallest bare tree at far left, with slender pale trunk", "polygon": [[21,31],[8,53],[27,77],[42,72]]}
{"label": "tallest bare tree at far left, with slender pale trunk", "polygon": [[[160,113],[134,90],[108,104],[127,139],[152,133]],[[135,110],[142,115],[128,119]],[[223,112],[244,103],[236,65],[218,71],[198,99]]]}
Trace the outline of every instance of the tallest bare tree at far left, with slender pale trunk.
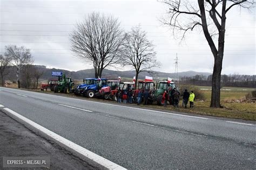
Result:
{"label": "tallest bare tree at far left, with slender pale trunk", "polygon": [[16,76],[18,82],[18,88],[21,88],[21,82],[19,81],[19,73],[24,65],[29,65],[33,62],[30,49],[24,46],[17,47],[16,45],[5,46],[5,55],[12,58],[13,65],[16,67]]}

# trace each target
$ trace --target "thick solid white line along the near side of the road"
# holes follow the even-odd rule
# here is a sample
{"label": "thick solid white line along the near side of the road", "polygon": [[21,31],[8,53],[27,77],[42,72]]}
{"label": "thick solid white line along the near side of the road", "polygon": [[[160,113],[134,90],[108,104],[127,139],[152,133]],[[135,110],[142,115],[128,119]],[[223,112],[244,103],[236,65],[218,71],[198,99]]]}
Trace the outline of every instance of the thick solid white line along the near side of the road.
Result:
{"label": "thick solid white line along the near side of the road", "polygon": [[30,119],[28,119],[22,115],[19,115],[17,112],[15,112],[11,109],[4,108],[4,110],[8,111],[12,116],[14,116],[17,119],[17,121],[22,120],[22,122],[29,124],[33,128],[37,129],[37,131],[39,131],[39,133],[41,132],[41,133],[45,134],[46,136],[50,137],[51,139],[53,139],[54,141],[56,141],[58,144],[64,145],[65,147],[69,148],[69,150],[71,150],[71,152],[77,152],[80,155],[83,155],[83,157],[86,157],[87,159],[90,159],[93,162],[96,162],[97,164],[99,164],[107,169],[126,169],[120,165],[115,164],[114,162],[112,162],[110,160],[100,157],[100,155],[97,155],[89,150],[86,150],[86,148],[84,148],[80,145],[77,145],[66,138],[63,138],[62,136],[59,136],[55,132],[52,132],[52,131],[44,128],[43,126],[31,121]]}

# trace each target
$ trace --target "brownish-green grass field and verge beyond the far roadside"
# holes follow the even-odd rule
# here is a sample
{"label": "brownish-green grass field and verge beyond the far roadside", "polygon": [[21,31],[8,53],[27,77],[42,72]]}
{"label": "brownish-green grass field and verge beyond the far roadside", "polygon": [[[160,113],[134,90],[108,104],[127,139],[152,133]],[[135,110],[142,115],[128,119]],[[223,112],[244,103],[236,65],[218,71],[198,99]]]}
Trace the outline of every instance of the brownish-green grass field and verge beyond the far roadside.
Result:
{"label": "brownish-green grass field and verge beyond the far roadside", "polygon": [[[16,84],[12,84],[12,86],[9,86],[11,88],[17,88]],[[248,93],[251,93],[252,90],[255,90],[253,88],[231,88],[231,87],[224,87],[223,89],[229,89],[229,90],[221,90],[221,105],[224,106],[223,109],[217,109],[217,108],[210,108],[210,101],[211,101],[211,87],[202,87],[197,86],[196,88],[202,89],[200,90],[204,96],[204,101],[195,101],[194,108],[182,108],[181,107],[181,101],[179,103],[179,108],[174,108],[172,105],[168,105],[167,108],[164,108],[162,106],[157,105],[156,103],[153,103],[152,105],[140,105],[141,107],[146,108],[156,108],[156,109],[162,109],[162,110],[173,110],[173,111],[180,111],[180,112],[187,112],[190,114],[199,114],[199,115],[209,115],[209,116],[217,116],[217,117],[226,117],[226,118],[237,118],[237,119],[245,119],[250,121],[256,121],[256,103],[248,102],[248,101],[242,101],[239,100],[245,99],[245,95]],[[208,89],[208,90],[206,90]],[[246,90],[245,90],[246,89]],[[192,89],[191,89],[192,90]],[[52,91],[40,91],[40,90],[33,90],[38,91],[42,93],[48,93],[48,94],[54,94]],[[64,95],[64,96],[70,96],[75,98],[84,98],[82,96],[76,96],[73,94],[58,94],[58,95]],[[197,95],[197,94],[196,94]],[[92,98],[91,100],[96,101],[104,101],[104,102],[112,102],[109,100],[102,100],[98,98]],[[132,104],[136,105],[136,104]]]}

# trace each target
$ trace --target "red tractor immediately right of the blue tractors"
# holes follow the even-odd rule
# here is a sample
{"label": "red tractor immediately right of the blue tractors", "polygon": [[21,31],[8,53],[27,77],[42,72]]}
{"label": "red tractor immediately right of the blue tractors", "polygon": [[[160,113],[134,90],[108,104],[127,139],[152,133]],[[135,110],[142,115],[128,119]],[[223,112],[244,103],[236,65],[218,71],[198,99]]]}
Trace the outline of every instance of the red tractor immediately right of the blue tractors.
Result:
{"label": "red tractor immediately right of the blue tractors", "polygon": [[107,86],[103,87],[99,90],[98,95],[102,96],[105,99],[111,99],[113,100],[113,98],[111,97],[111,91],[113,90],[117,90],[117,88],[119,87],[119,80],[108,80],[107,81]]}

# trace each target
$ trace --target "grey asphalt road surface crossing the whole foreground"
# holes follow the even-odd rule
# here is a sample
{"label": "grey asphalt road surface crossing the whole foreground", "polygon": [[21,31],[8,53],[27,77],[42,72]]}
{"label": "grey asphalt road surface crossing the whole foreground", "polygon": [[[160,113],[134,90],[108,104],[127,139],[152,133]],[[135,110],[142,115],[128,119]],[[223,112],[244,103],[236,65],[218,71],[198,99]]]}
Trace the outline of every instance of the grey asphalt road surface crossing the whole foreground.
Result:
{"label": "grey asphalt road surface crossing the whole foreground", "polygon": [[0,104],[129,169],[256,169],[254,123],[0,88]]}

